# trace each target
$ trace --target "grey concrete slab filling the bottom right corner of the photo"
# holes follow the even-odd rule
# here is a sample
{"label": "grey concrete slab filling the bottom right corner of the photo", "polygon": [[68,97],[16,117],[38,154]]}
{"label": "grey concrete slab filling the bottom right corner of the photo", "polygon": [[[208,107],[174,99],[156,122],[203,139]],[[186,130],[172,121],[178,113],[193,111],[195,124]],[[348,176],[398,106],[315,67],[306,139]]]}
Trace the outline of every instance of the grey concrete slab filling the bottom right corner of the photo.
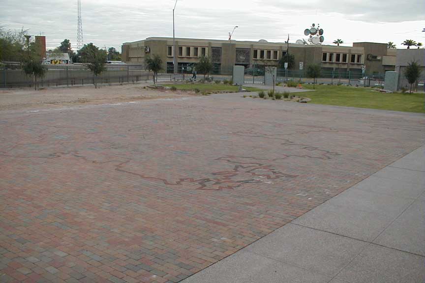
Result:
{"label": "grey concrete slab filling the bottom right corner of the photo", "polygon": [[370,244],[336,278],[353,283],[424,283],[425,257]]}

